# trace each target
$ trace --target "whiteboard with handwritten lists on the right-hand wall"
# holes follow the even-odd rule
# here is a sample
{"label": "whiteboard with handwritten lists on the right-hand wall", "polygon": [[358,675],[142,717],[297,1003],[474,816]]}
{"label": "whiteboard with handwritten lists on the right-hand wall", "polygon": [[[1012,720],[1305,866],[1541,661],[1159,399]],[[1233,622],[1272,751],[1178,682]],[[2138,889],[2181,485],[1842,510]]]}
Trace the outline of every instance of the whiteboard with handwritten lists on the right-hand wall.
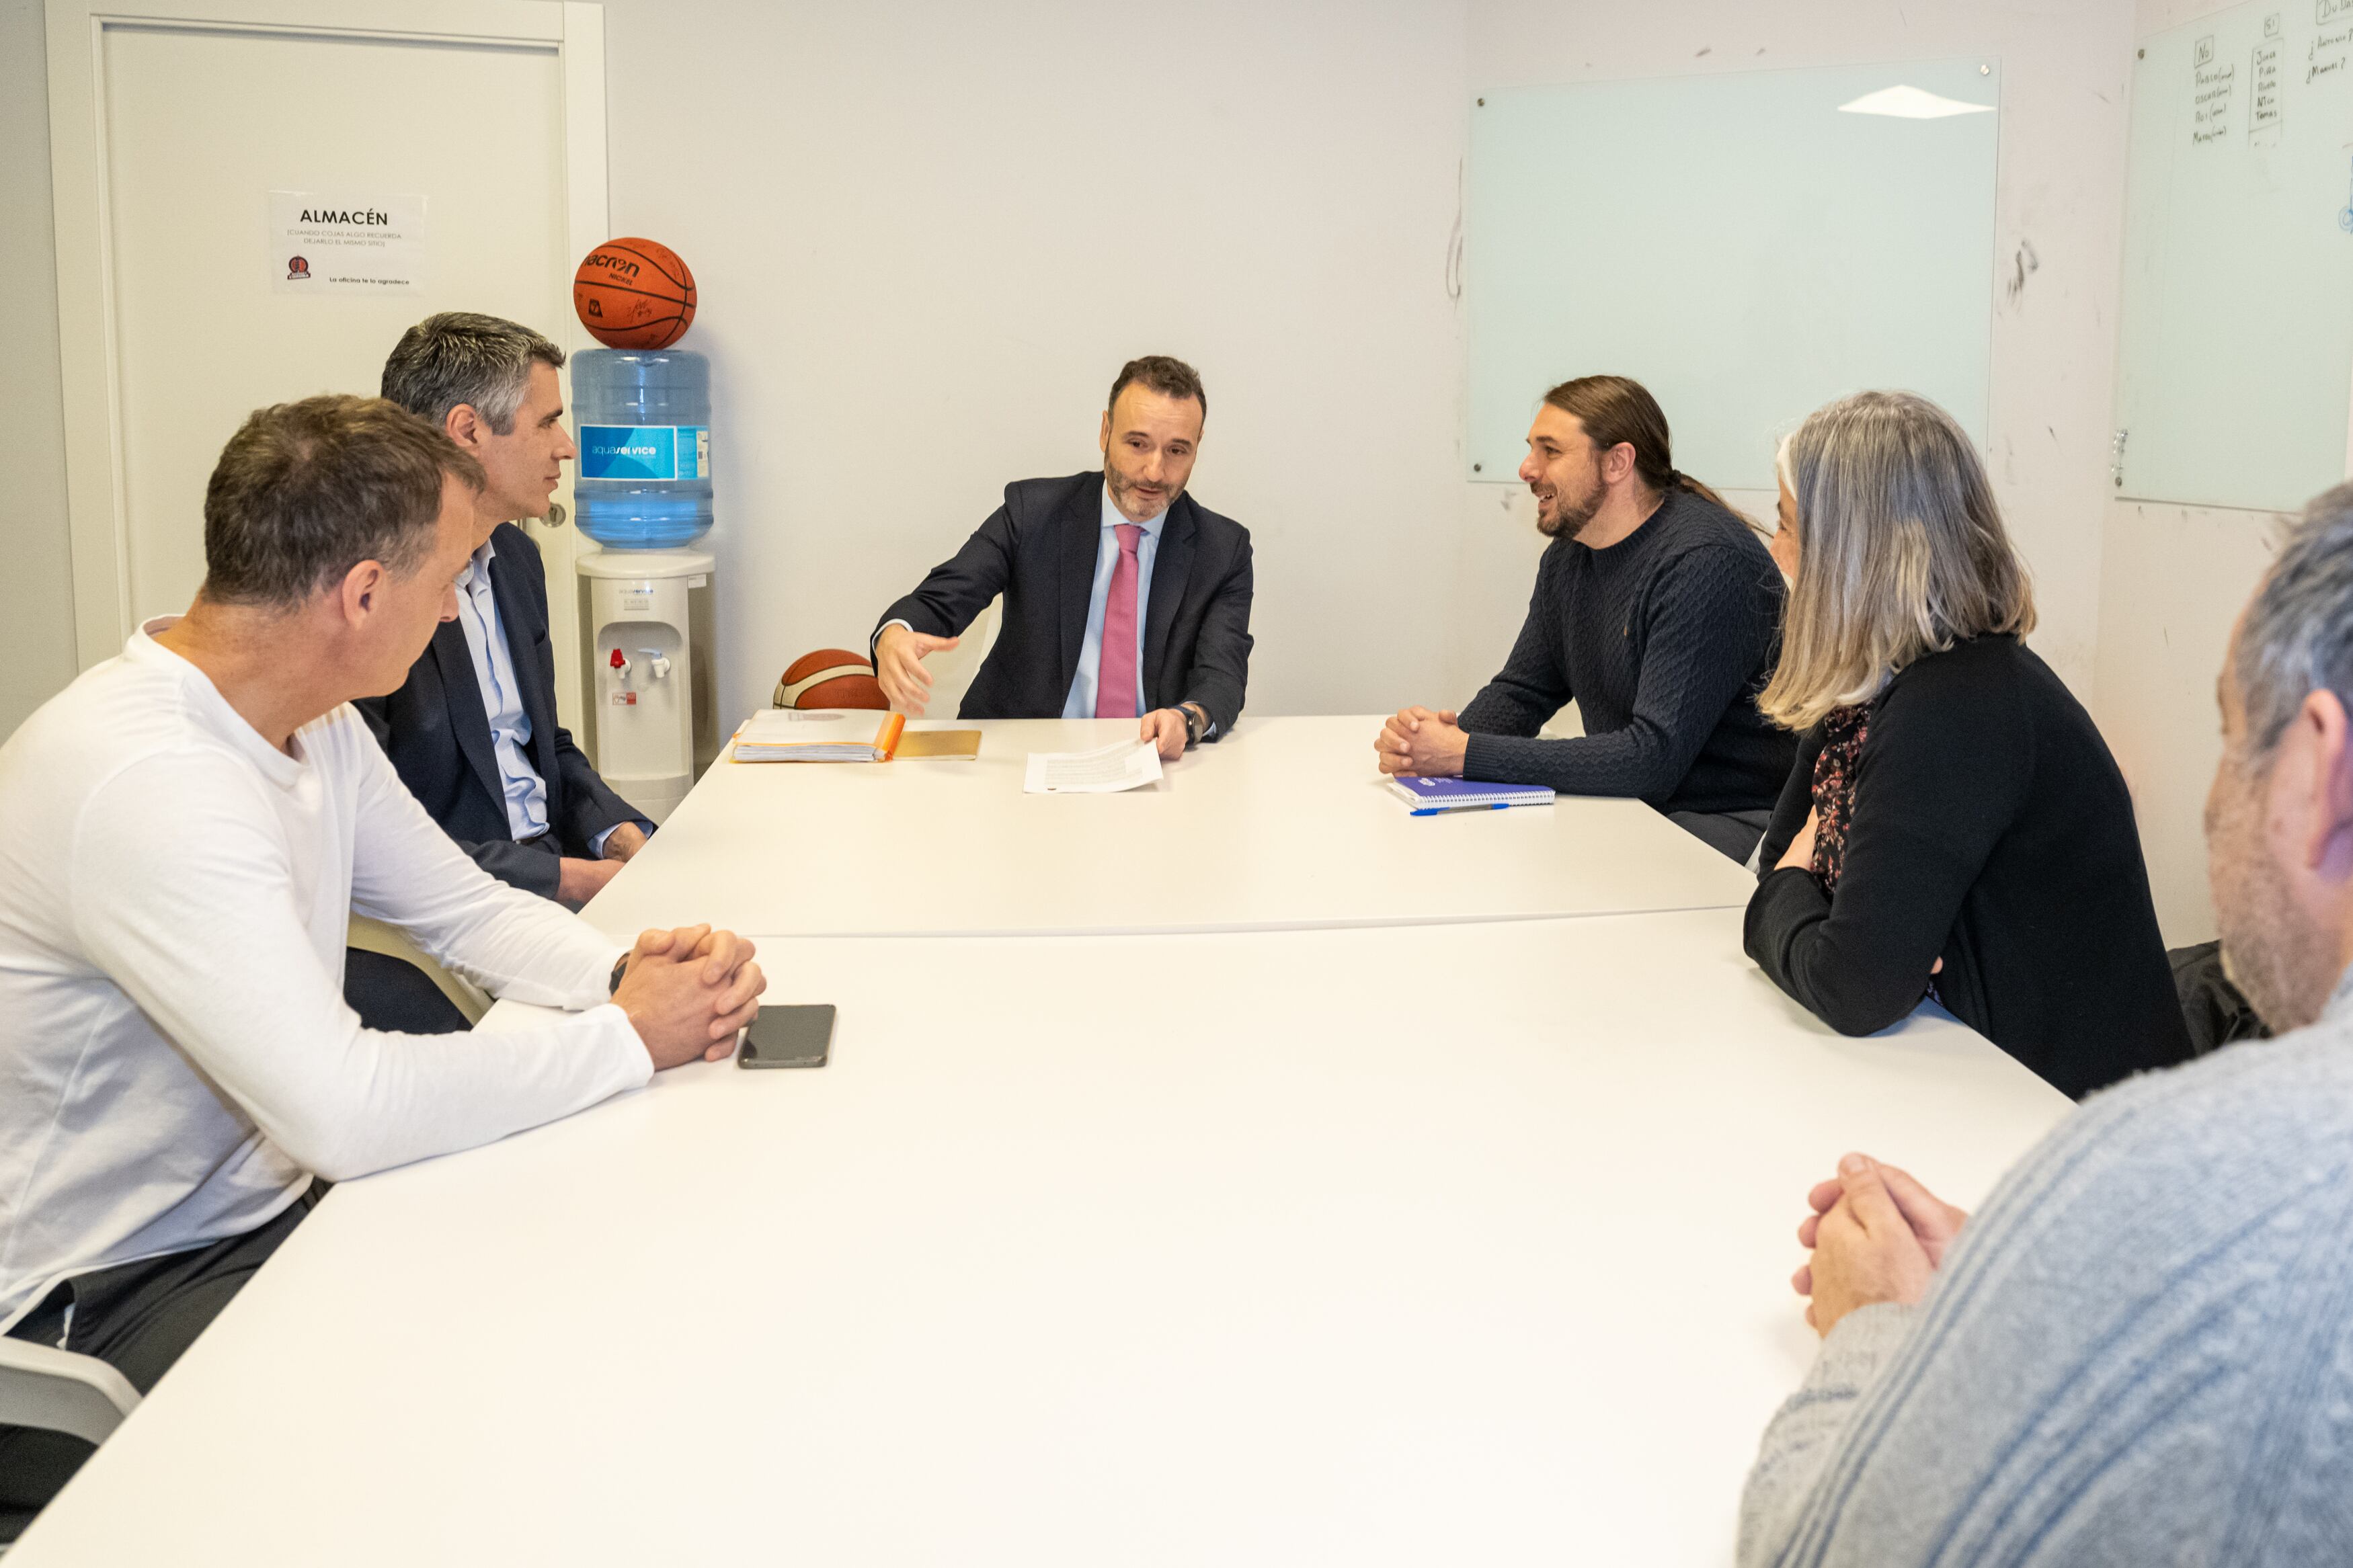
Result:
{"label": "whiteboard with handwritten lists on the right-hand wall", "polygon": [[2118,496],[2292,510],[2346,477],[2353,0],[2141,40],[2118,371]]}

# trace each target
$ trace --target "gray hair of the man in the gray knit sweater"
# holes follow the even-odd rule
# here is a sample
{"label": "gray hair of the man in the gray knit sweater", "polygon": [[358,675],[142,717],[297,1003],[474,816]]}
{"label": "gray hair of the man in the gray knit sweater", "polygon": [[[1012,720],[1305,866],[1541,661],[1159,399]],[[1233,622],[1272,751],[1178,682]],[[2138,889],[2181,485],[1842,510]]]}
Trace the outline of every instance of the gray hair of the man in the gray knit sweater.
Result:
{"label": "gray hair of the man in the gray knit sweater", "polygon": [[2245,755],[2266,764],[2313,691],[2353,710],[2353,484],[2315,496],[2247,604],[2231,668]]}

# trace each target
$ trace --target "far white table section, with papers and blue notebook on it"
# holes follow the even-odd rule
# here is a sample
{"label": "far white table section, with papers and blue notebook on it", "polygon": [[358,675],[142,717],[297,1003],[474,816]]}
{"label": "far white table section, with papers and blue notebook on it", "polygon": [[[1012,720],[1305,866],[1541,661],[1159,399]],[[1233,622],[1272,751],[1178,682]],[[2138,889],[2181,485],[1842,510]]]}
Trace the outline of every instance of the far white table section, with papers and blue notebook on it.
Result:
{"label": "far white table section, with papers and blue notebook on it", "polygon": [[1132,719],[920,726],[979,729],[979,759],[722,757],[588,919],[624,940],[692,922],[769,936],[1249,931],[1711,910],[1755,891],[1631,799],[1407,816],[1372,762],[1379,717],[1245,717],[1125,795],[1024,795],[1021,769],[1033,750],[1134,736]]}

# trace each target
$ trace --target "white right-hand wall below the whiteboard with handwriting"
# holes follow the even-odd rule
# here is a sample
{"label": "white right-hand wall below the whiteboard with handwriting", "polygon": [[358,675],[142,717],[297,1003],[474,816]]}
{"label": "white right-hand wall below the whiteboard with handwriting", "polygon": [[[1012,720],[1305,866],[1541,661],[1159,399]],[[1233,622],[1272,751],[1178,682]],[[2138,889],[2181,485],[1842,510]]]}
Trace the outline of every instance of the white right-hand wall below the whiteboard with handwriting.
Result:
{"label": "white right-hand wall below the whiteboard with handwriting", "polygon": [[[2139,0],[2134,38],[2231,0]],[[2101,550],[2099,724],[2132,780],[2158,922],[2172,945],[2214,936],[2205,792],[2221,757],[2214,677],[2240,604],[2273,555],[2271,512],[2111,501]]]}

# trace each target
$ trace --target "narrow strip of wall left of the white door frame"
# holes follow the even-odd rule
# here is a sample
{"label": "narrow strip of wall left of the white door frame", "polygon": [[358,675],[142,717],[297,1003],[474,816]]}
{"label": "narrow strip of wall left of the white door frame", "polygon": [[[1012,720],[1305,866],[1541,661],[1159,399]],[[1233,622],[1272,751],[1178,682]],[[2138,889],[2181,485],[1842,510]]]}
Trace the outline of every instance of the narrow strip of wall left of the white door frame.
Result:
{"label": "narrow strip of wall left of the white door frame", "polygon": [[7,550],[0,741],[75,668],[45,40],[40,0],[0,0],[0,277],[9,280],[9,362],[0,374],[0,430],[9,447],[0,489]]}

